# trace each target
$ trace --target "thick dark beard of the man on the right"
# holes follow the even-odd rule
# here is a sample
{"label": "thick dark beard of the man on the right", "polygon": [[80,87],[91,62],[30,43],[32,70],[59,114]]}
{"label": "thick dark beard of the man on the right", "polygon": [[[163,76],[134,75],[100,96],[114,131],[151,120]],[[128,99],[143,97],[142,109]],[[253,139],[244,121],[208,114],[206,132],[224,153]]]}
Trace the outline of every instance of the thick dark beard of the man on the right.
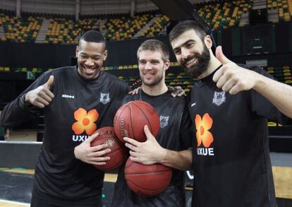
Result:
{"label": "thick dark beard of the man on the right", "polygon": [[[185,73],[187,73],[188,76],[190,76],[191,78],[199,78],[199,76],[207,70],[207,67],[209,65],[209,50],[207,49],[206,45],[204,45],[203,47],[204,49],[202,51],[202,54],[195,54],[192,57],[188,57],[188,59],[183,60],[181,63],[185,68]],[[195,63],[193,66],[190,66],[190,68],[187,68],[185,66],[185,62],[188,62],[189,60],[194,58],[197,59],[197,63]]]}

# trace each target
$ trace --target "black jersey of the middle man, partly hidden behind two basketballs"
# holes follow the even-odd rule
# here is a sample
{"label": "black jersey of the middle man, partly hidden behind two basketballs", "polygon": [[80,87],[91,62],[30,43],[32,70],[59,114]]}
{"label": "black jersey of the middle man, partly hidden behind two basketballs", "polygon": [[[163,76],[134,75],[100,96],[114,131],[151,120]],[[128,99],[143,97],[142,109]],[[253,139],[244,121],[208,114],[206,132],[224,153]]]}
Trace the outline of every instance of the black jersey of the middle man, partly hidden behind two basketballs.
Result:
{"label": "black jersey of the middle man, partly hidden behind two basketballs", "polygon": [[[160,117],[158,143],[169,150],[184,150],[192,146],[192,126],[185,97],[171,97],[169,92],[150,96],[140,91],[138,95],[128,95],[122,103],[142,100],[150,103]],[[114,108],[114,107],[112,107]],[[128,188],[124,177],[125,163],[120,167],[111,206],[185,206],[184,175],[173,169],[170,186],[153,197],[138,196]],[[159,182],[159,181],[157,181]]]}

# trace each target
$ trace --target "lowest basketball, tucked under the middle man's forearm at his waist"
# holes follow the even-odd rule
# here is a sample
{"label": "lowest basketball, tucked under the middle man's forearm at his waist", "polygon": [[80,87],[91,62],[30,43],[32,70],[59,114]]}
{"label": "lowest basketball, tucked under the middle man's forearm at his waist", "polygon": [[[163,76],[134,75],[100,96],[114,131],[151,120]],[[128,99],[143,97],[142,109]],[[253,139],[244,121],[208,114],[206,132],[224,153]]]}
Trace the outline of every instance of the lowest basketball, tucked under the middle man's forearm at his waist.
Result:
{"label": "lowest basketball, tucked under the middle man's forearm at his waist", "polygon": [[162,164],[143,165],[128,158],[125,179],[128,187],[141,196],[156,196],[169,187],[171,168]]}

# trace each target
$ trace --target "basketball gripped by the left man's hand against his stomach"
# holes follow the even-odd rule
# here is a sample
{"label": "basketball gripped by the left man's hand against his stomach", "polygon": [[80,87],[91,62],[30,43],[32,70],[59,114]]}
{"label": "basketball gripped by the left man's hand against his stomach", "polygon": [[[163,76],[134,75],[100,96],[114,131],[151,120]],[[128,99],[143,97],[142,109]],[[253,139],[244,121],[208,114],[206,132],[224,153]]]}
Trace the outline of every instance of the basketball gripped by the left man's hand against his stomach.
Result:
{"label": "basketball gripped by the left man's hand against his stomach", "polygon": [[126,153],[123,144],[118,141],[116,134],[114,133],[114,127],[106,126],[97,130],[99,136],[91,142],[91,146],[98,146],[102,144],[107,144],[104,149],[111,149],[110,153],[104,155],[104,157],[110,157],[107,160],[106,165],[94,165],[99,170],[112,170],[123,163],[126,160]]}

